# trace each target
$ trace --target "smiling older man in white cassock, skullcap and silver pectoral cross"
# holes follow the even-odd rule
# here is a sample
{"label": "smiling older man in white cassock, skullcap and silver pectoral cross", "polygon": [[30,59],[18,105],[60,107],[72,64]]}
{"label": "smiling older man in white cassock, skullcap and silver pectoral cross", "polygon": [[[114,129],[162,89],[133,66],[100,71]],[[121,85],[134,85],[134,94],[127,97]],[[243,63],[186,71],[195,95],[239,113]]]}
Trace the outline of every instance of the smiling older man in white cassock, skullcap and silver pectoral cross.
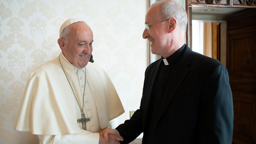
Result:
{"label": "smiling older man in white cassock, skullcap and silver pectoral cross", "polygon": [[99,132],[124,109],[108,75],[89,62],[92,43],[84,21],[62,24],[62,52],[30,74],[14,129],[37,135],[40,144],[104,143]]}

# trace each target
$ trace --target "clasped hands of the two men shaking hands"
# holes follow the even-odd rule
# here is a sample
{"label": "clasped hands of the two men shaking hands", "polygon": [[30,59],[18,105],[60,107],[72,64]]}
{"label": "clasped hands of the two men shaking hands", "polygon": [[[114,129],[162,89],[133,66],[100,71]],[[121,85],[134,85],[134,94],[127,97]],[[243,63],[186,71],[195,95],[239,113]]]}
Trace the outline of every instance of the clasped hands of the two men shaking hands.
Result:
{"label": "clasped hands of the two men shaking hands", "polygon": [[106,128],[99,133],[99,144],[120,144],[123,137],[116,129]]}

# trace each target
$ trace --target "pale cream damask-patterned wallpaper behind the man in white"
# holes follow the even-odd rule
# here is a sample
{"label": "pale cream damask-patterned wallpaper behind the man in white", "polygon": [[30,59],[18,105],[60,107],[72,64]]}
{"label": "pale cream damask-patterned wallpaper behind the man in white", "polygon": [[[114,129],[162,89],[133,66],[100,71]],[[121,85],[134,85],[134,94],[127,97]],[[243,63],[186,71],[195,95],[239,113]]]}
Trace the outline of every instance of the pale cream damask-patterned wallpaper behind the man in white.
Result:
{"label": "pale cream damask-patterned wallpaper behind the man in white", "polygon": [[81,18],[93,30],[93,58],[110,75],[125,113],[139,108],[147,67],[147,0],[1,0],[0,143],[36,144],[37,136],[13,129],[32,70],[59,55],[59,27]]}

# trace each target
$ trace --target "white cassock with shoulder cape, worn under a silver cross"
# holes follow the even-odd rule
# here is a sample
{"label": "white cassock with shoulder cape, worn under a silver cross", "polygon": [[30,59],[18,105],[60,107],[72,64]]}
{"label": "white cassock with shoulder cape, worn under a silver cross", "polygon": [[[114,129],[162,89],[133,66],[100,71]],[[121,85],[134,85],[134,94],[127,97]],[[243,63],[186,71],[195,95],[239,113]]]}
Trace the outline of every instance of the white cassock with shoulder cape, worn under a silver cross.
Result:
{"label": "white cassock with shoulder cape, worn under a silver cross", "polygon": [[[84,113],[90,121],[82,129],[81,110],[61,68],[67,74]],[[99,132],[124,109],[108,75],[88,62],[78,69],[61,55],[36,68],[29,76],[14,129],[38,135],[40,143],[98,144]]]}

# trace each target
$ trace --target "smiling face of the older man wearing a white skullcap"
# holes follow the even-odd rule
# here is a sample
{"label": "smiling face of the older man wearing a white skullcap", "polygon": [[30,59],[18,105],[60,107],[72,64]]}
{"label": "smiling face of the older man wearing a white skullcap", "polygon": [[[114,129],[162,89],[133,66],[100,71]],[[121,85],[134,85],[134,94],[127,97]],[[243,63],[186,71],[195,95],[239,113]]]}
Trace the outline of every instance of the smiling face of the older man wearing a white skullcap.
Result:
{"label": "smiling face of the older man wearing a white skullcap", "polygon": [[68,43],[58,39],[65,58],[77,68],[84,68],[93,51],[93,32],[86,23],[77,22],[69,25]]}

